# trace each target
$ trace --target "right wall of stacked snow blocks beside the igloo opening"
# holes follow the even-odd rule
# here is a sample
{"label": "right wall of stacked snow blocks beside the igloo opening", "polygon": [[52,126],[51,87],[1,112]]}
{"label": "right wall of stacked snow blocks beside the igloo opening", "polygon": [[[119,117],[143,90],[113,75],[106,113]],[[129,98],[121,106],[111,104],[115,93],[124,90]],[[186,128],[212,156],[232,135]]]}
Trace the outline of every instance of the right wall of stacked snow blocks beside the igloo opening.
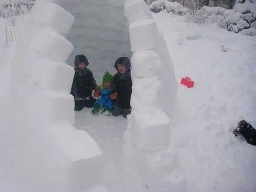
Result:
{"label": "right wall of stacked snow blocks beside the igloo opening", "polygon": [[126,0],[124,10],[133,51],[130,125],[139,148],[158,150],[169,146],[180,112],[172,59],[145,2]]}

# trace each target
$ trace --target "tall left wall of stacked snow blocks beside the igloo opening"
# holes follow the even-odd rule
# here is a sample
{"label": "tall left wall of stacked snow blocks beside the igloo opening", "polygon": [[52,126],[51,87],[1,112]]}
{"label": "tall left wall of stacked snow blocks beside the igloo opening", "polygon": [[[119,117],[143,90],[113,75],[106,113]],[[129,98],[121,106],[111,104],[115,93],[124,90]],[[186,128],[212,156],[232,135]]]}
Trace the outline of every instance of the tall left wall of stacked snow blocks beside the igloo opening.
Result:
{"label": "tall left wall of stacked snow blocks beside the igloo opening", "polygon": [[10,69],[9,88],[0,91],[7,91],[0,105],[3,191],[69,191],[72,162],[101,154],[97,143],[72,125],[74,70],[64,62],[73,46],[61,34],[68,33],[73,20],[57,4],[36,1],[31,13],[17,19],[20,37],[10,45],[14,54],[1,57],[11,66],[3,69]]}

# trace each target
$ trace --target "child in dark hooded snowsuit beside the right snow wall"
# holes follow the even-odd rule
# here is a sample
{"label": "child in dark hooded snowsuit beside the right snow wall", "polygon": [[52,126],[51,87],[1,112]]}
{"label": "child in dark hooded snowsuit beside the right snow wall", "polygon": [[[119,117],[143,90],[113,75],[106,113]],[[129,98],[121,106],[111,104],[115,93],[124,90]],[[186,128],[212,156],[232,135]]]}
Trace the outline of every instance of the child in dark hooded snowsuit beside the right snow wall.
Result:
{"label": "child in dark hooded snowsuit beside the right snow wall", "polygon": [[131,114],[131,95],[132,95],[132,79],[131,79],[131,61],[127,57],[119,57],[114,67],[117,73],[114,75],[115,94],[111,95],[112,99],[117,99],[116,106],[112,114],[114,116],[123,115],[124,118]]}

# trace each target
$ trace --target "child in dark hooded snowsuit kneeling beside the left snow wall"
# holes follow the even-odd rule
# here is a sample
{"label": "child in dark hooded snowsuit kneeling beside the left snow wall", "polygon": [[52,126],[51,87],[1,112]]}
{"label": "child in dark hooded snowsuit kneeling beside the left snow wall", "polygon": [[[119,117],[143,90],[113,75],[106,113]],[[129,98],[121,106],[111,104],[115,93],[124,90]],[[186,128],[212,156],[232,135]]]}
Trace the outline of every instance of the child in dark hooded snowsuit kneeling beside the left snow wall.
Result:
{"label": "child in dark hooded snowsuit kneeling beside the left snow wall", "polygon": [[75,100],[75,110],[80,111],[83,106],[92,108],[95,99],[92,91],[97,87],[93,73],[87,69],[88,59],[84,55],[75,56],[75,75],[72,83],[71,93]]}

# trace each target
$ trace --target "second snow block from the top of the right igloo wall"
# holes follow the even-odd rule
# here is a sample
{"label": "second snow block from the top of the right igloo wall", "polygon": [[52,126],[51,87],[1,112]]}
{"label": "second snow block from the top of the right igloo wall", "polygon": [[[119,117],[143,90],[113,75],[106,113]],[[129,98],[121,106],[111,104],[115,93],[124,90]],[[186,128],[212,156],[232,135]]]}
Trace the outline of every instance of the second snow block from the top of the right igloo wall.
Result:
{"label": "second snow block from the top of the right igloo wall", "polygon": [[131,50],[153,49],[156,45],[157,28],[152,19],[140,19],[130,24]]}

